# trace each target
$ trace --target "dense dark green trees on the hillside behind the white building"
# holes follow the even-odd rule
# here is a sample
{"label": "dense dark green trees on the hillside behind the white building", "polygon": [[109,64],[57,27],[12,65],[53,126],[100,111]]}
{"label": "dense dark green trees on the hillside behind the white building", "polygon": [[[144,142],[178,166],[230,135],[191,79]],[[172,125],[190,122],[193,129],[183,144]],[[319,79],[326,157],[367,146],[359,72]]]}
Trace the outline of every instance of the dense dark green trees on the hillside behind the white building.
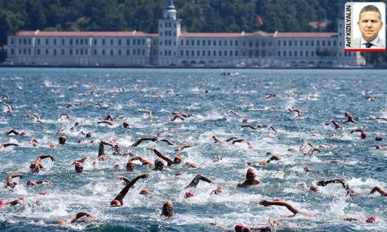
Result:
{"label": "dense dark green trees on the hillside behind the white building", "polygon": [[[157,33],[157,19],[162,17],[165,2],[0,0],[0,45],[7,44],[7,35],[21,30]],[[341,2],[344,1],[175,0],[174,4],[186,32],[336,32]],[[312,21],[326,22],[326,26],[312,27]]]}

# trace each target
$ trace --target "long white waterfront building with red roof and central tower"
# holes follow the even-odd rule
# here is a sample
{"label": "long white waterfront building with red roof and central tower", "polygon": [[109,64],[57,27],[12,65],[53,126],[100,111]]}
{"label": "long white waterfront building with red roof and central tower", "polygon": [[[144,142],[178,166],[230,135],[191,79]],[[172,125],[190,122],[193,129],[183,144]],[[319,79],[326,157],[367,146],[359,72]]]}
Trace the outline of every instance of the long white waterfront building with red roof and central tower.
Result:
{"label": "long white waterfront building with red roof and central tower", "polygon": [[[15,65],[52,66],[246,66],[364,65],[360,52],[344,52],[339,33],[186,33],[173,0],[158,20],[158,34],[143,32],[31,32],[8,36]],[[317,48],[335,49],[318,56]]]}

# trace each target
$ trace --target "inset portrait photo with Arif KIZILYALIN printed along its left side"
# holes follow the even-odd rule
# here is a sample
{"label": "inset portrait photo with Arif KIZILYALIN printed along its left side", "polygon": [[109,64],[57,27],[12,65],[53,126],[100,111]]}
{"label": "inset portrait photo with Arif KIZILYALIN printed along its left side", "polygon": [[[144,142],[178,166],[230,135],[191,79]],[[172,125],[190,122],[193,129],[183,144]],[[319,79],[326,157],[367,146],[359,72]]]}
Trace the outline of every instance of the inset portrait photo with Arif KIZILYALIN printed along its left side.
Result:
{"label": "inset portrait photo with Arif KIZILYALIN printed along its left side", "polygon": [[344,17],[345,51],[386,51],[384,3],[346,3]]}

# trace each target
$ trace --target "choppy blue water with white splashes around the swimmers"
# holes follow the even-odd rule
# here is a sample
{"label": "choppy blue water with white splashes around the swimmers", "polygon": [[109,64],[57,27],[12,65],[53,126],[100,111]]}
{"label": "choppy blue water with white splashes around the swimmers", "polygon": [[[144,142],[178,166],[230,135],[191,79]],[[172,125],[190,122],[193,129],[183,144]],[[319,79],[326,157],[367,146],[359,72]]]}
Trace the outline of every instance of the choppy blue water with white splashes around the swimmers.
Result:
{"label": "choppy blue water with white splashes around the swimmers", "polygon": [[[228,70],[229,71],[229,70]],[[232,71],[232,70],[230,70]],[[238,70],[236,77],[220,76],[221,70],[177,70],[177,69],[0,69],[0,94],[8,94],[4,102],[13,106],[9,114],[4,108],[0,117],[0,143],[18,142],[20,147],[8,147],[0,151],[0,172],[5,185],[7,173],[22,172],[21,180],[49,179],[53,186],[30,188],[18,185],[15,189],[0,188],[0,198],[5,201],[19,196],[25,197],[22,205],[0,209],[0,230],[5,231],[62,231],[67,229],[88,231],[223,231],[237,223],[258,226],[267,224],[268,217],[274,217],[291,227],[277,228],[277,231],[385,231],[387,226],[387,198],[380,194],[370,195],[375,185],[387,187],[385,158],[387,151],[375,150],[376,135],[385,135],[387,122],[375,117],[387,117],[387,77],[384,70]],[[114,94],[119,88],[125,92]],[[91,94],[90,89],[97,89]],[[376,102],[368,101],[365,90],[372,89]],[[166,91],[172,92],[165,94]],[[205,93],[209,90],[209,93]],[[297,92],[293,95],[292,92]],[[277,97],[264,101],[267,93]],[[180,96],[174,97],[179,94]],[[308,99],[308,100],[307,100]],[[84,102],[80,105],[80,102]],[[74,108],[65,108],[69,103]],[[95,103],[102,107],[95,107]],[[261,111],[253,111],[257,105]],[[264,110],[274,106],[275,111]],[[302,119],[295,119],[295,113],[287,108],[294,106],[302,111]],[[153,119],[138,112],[138,109],[153,111]],[[236,116],[227,111],[234,110]],[[172,111],[179,110],[195,115],[181,122],[170,123]],[[358,124],[344,123],[344,112],[354,115]],[[26,118],[27,112],[38,113],[43,124],[34,118]],[[72,119],[57,119],[68,112]],[[124,129],[121,121],[114,126],[98,125],[107,114],[123,115],[130,128]],[[242,129],[242,118],[251,124],[274,125],[278,133],[267,130]],[[345,128],[334,130],[324,122],[336,119]],[[82,124],[75,131],[69,128],[76,121]],[[67,144],[58,144],[57,130],[67,127],[63,133]],[[358,133],[350,130],[364,128],[367,139],[360,139]],[[9,129],[24,130],[27,136],[7,136]],[[169,131],[169,128],[173,130]],[[80,131],[93,133],[85,138]],[[172,166],[171,172],[155,172],[136,165],[139,172],[150,173],[148,179],[135,184],[124,199],[124,206],[109,207],[109,202],[124,187],[116,180],[118,175],[133,178],[123,167],[127,157],[114,157],[100,162],[100,169],[94,169],[92,161],[98,154],[98,141],[115,137],[124,148],[136,154],[155,159],[146,147],[156,147],[163,154],[174,157],[176,147],[166,143],[145,142],[139,147],[130,145],[142,136],[155,136],[163,131],[162,138],[170,138],[177,144],[193,142],[194,147],[185,149],[181,155],[184,161],[195,162],[202,169]],[[210,138],[214,133],[220,139],[240,136],[250,141],[254,149],[245,143],[214,144]],[[332,133],[343,137],[329,138]],[[271,135],[267,136],[267,135]],[[39,148],[28,143],[30,136],[40,142]],[[78,144],[79,138],[95,143]],[[299,148],[309,140],[314,145],[335,144],[333,149],[305,156],[288,152],[288,148]],[[55,149],[47,148],[50,143]],[[385,141],[379,144],[387,146]],[[108,151],[108,149],[106,149]],[[241,189],[236,185],[244,179],[247,161],[266,160],[266,152],[279,154],[283,164],[272,162],[257,167],[257,177],[263,181],[258,187]],[[44,171],[33,175],[30,163],[42,154],[52,154],[56,162],[43,160]],[[85,163],[88,175],[77,175],[71,162],[90,156]],[[218,163],[212,160],[222,156]],[[328,163],[329,160],[344,160],[346,163]],[[114,169],[120,163],[121,169]],[[311,173],[304,173],[303,167],[310,166]],[[184,175],[175,177],[181,170]],[[210,195],[215,185],[199,183],[196,196],[184,198],[184,187],[197,174],[223,185],[222,195]],[[318,180],[346,178],[358,193],[348,197],[340,184],[322,187],[318,194],[300,187]],[[142,188],[149,188],[151,194],[139,195]],[[49,191],[47,196],[38,195]],[[292,202],[300,209],[311,211],[313,218],[296,216],[280,207],[261,207],[254,202],[280,197]],[[43,205],[36,206],[40,199]],[[160,217],[165,200],[174,202],[176,216]],[[97,218],[92,223],[75,223],[59,226],[58,220],[67,220],[79,211],[88,211]],[[349,216],[368,217],[375,215],[379,220],[374,224],[346,222]],[[211,223],[211,224],[210,224]],[[216,225],[213,225],[216,224]]]}

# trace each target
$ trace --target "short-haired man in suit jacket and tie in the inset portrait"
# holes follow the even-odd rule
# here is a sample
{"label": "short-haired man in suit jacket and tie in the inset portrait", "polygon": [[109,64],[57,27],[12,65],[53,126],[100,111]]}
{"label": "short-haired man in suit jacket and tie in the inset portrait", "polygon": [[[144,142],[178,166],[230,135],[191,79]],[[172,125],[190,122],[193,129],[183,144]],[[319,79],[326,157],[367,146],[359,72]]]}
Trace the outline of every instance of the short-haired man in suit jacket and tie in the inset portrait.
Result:
{"label": "short-haired man in suit jacket and tie in the inset portrait", "polygon": [[381,14],[374,5],[367,5],[360,11],[357,22],[361,38],[353,40],[353,46],[357,48],[385,48],[385,41],[379,38],[379,31],[383,26]]}

